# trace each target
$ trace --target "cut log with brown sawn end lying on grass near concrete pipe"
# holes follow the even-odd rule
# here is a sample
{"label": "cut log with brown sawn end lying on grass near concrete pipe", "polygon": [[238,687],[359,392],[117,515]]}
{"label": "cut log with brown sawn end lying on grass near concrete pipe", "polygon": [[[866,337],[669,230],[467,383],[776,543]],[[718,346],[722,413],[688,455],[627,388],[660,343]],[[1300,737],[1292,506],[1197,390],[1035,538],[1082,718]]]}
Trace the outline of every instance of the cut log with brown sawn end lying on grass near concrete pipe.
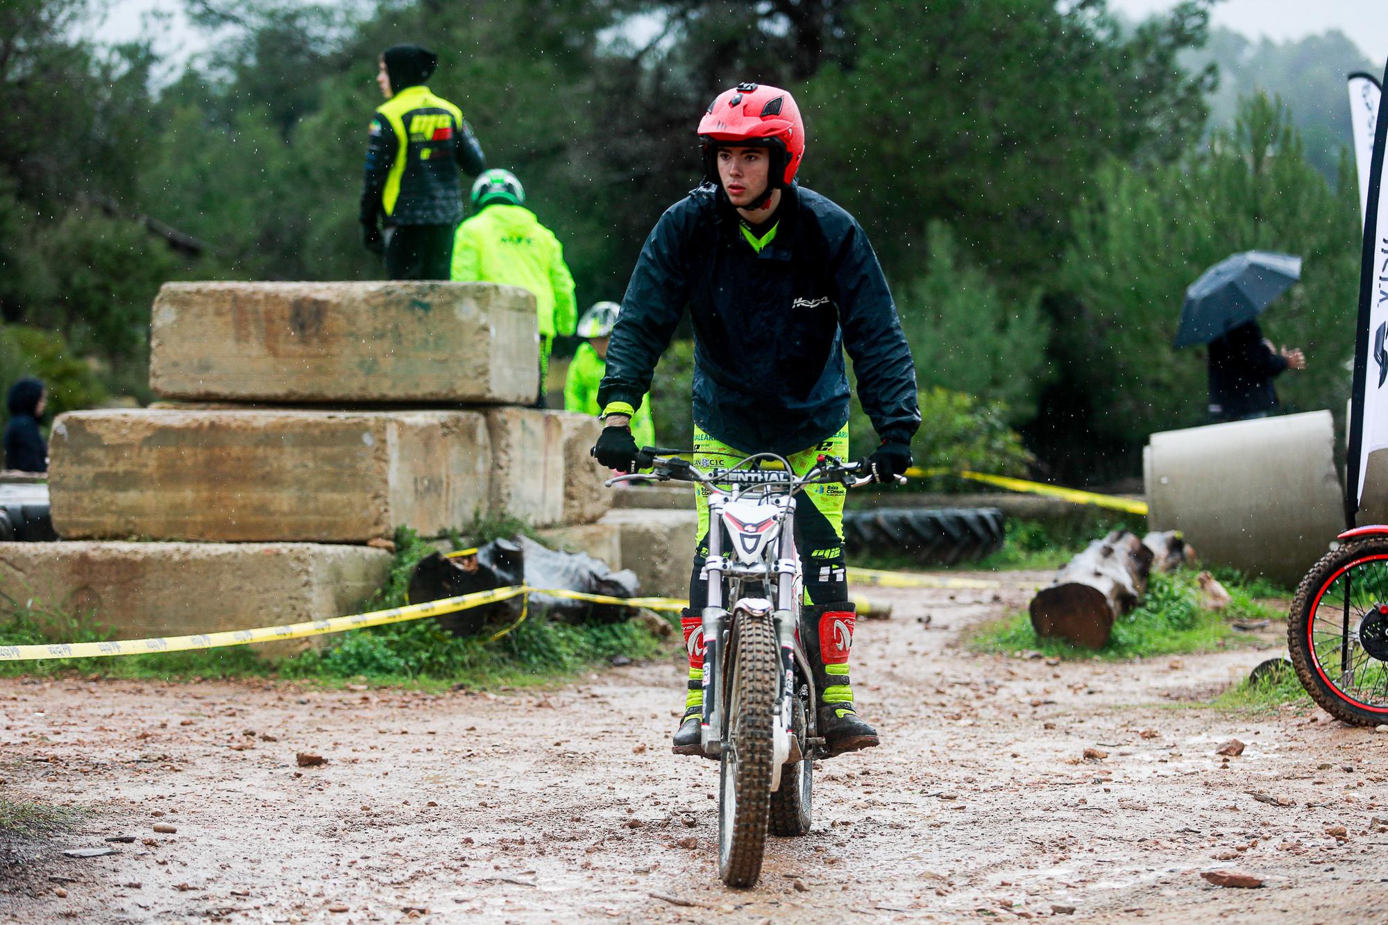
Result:
{"label": "cut log with brown sawn end lying on grass near concrete pipe", "polygon": [[1031,626],[1038,636],[1103,647],[1113,621],[1133,610],[1146,590],[1152,560],[1152,550],[1137,533],[1113,531],[1094,540],[1031,599]]}

